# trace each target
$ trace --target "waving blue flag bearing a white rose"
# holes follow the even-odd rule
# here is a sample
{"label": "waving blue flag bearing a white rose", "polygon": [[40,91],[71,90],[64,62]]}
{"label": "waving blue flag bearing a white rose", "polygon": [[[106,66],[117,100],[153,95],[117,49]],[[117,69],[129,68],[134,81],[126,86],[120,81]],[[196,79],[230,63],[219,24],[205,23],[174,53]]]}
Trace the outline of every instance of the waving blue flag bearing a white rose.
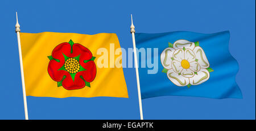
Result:
{"label": "waving blue flag bearing a white rose", "polygon": [[229,37],[229,31],[135,33],[142,99],[163,95],[242,98]]}

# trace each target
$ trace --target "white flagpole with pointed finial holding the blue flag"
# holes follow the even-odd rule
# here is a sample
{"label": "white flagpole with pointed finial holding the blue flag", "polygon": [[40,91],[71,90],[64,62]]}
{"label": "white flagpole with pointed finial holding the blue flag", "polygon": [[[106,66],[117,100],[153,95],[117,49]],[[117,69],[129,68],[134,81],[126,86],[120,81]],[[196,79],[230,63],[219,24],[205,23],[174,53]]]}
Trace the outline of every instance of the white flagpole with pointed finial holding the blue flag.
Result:
{"label": "white flagpole with pointed finial holding the blue flag", "polygon": [[134,52],[134,62],[135,62],[138,97],[139,97],[139,113],[141,114],[141,120],[143,120],[142,102],[141,102],[141,86],[139,85],[139,71],[138,71],[137,51],[136,51],[134,34],[135,34],[135,27],[133,25],[133,15],[131,15],[131,36],[133,37],[133,52]]}

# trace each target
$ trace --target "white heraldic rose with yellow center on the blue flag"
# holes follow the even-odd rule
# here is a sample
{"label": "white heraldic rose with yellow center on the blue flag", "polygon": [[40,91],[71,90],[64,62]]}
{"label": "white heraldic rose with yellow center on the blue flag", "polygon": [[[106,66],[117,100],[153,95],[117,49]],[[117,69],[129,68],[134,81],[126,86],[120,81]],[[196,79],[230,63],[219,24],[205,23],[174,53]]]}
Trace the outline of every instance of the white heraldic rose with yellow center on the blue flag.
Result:
{"label": "white heraldic rose with yellow center on the blue flag", "polygon": [[164,49],[160,59],[167,77],[177,86],[199,85],[209,79],[208,70],[213,71],[199,43],[187,40],[178,40]]}

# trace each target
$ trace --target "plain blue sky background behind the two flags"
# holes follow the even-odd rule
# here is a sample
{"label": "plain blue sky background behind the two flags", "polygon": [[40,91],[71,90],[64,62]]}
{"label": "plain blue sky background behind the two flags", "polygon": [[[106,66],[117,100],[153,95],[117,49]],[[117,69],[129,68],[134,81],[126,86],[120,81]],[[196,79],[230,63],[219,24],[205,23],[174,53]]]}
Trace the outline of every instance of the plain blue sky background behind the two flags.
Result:
{"label": "plain blue sky background behind the two flags", "polygon": [[[15,11],[22,32],[117,33],[133,47],[135,30],[161,33],[230,30],[243,99],[156,97],[142,101],[144,119],[255,119],[255,1],[1,1],[0,119],[24,119]],[[139,119],[134,68],[125,68],[127,98],[27,97],[30,119]]]}

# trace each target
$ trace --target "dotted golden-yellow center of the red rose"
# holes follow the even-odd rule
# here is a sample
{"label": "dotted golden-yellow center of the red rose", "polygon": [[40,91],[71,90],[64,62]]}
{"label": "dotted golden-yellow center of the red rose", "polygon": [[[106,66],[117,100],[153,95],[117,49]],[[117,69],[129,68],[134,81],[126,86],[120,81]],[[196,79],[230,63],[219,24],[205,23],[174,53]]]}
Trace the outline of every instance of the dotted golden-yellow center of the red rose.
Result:
{"label": "dotted golden-yellow center of the red rose", "polygon": [[79,72],[80,64],[76,59],[68,58],[65,61],[64,67],[69,73],[77,73]]}

